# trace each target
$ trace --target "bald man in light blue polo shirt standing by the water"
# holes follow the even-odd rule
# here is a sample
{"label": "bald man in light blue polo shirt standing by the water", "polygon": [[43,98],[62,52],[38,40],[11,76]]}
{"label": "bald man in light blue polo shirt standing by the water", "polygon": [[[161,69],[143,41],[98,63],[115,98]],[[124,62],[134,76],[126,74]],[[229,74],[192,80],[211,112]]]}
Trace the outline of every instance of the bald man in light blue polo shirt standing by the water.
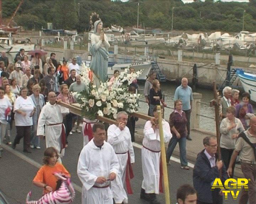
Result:
{"label": "bald man in light blue polo shirt standing by the water", "polygon": [[174,101],[182,101],[182,111],[185,112],[187,118],[187,140],[192,140],[190,137],[190,115],[192,110],[193,93],[190,86],[188,86],[187,78],[181,79],[181,85],[177,87],[174,94]]}

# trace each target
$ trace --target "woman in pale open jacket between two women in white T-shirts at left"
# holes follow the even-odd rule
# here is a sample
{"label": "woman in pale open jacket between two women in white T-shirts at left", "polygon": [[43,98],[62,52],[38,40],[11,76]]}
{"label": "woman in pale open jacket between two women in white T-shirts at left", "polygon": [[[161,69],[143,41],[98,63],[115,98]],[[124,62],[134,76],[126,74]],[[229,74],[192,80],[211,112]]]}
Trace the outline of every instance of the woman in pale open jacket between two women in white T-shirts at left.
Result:
{"label": "woman in pale open jacket between two women in white T-shirts at left", "polygon": [[[12,105],[12,110],[13,110],[16,96],[14,93],[11,92],[10,85],[5,85],[5,96],[9,99],[9,101]],[[11,145],[10,130],[12,129],[12,121],[14,121],[14,113],[13,112],[11,112],[11,120],[8,122],[6,133],[5,133],[5,140],[6,140],[7,145]]]}

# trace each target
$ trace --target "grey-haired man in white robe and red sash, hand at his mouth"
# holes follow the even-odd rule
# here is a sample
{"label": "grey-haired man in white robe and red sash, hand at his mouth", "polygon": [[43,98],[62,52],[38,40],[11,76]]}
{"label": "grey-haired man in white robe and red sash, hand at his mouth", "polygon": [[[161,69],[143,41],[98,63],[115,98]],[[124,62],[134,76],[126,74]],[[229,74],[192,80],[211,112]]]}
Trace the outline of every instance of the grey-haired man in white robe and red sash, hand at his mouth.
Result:
{"label": "grey-haired man in white robe and red sash, hand at his mouth", "polygon": [[132,194],[132,189],[129,182],[129,175],[132,179],[133,173],[131,165],[129,164],[133,164],[135,159],[130,131],[129,128],[126,126],[127,119],[128,114],[126,112],[118,112],[118,126],[115,124],[110,125],[107,130],[107,142],[112,145],[114,151],[116,152],[120,165],[119,175],[117,177],[121,179],[117,178],[111,183],[113,198],[116,204],[128,202],[127,193],[124,191],[123,188],[124,184],[126,184],[128,194]]}

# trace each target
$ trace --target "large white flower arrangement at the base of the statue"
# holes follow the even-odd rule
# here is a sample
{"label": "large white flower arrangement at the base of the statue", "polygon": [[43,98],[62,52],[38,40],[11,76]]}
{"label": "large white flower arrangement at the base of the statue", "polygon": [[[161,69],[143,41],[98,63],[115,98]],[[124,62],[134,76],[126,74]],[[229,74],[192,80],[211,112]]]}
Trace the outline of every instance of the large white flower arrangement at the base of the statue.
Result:
{"label": "large white flower arrangement at the base of the statue", "polygon": [[96,119],[97,115],[116,119],[119,111],[137,112],[140,95],[137,91],[135,94],[129,93],[128,87],[142,74],[142,70],[135,73],[128,73],[128,71],[129,67],[121,72],[119,78],[113,83],[105,82],[96,87],[89,78],[90,68],[83,64],[81,80],[87,85],[87,89],[76,95],[82,115],[90,120]]}

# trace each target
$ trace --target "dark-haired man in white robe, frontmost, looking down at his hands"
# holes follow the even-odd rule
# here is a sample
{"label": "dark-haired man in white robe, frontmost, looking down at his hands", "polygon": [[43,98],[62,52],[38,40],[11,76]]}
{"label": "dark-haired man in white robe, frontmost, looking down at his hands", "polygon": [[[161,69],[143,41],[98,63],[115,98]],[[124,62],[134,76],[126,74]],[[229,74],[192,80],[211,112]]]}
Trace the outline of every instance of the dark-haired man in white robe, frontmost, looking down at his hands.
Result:
{"label": "dark-haired man in white robe, frontmost, looking down at his hands", "polygon": [[114,149],[105,142],[106,131],[102,123],[92,127],[94,138],[82,149],[77,174],[82,182],[82,204],[113,204],[110,189],[119,172]]}

